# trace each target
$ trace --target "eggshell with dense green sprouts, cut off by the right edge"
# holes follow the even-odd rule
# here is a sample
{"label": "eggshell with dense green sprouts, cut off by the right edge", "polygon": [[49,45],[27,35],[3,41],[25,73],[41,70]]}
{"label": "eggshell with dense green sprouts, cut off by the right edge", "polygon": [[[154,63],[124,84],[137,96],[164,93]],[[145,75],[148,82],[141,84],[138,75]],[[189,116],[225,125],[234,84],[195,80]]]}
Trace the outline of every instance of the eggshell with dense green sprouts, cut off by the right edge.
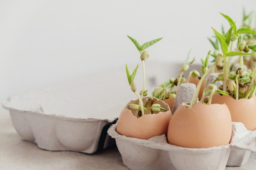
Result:
{"label": "eggshell with dense green sprouts, cut off by the right edge", "polygon": [[[241,27],[236,29],[235,22],[227,15],[222,16],[228,20],[230,29],[225,35],[220,34],[213,29],[218,42],[221,46],[221,52],[218,53],[216,60],[223,62],[223,72],[219,74],[216,81],[222,81],[223,91],[229,93],[229,96],[216,94],[213,96],[212,103],[227,104],[229,107],[232,121],[242,122],[247,130],[256,129],[256,45],[248,44],[251,41],[248,37],[255,37],[256,31]],[[244,38],[246,38],[244,40]],[[233,50],[233,44],[236,42],[236,49]],[[251,51],[251,53],[249,53]],[[239,68],[236,71],[230,71],[231,57],[238,56]],[[254,61],[254,68],[244,69],[244,57],[250,56]]]}

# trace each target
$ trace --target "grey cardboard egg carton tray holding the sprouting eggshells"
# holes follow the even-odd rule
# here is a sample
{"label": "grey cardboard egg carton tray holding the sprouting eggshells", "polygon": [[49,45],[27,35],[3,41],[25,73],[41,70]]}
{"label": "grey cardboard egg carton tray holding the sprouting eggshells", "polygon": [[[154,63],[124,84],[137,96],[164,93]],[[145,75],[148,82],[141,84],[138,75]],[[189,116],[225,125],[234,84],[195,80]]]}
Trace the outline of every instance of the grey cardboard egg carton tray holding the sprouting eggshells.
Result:
{"label": "grey cardboard egg carton tray holding the sprouting eggshells", "polygon": [[225,170],[226,166],[242,165],[250,152],[256,152],[256,130],[237,135],[245,127],[239,122],[232,126],[231,143],[211,148],[171,145],[165,135],[148,140],[126,137],[116,132],[117,124],[108,134],[116,140],[123,163],[131,170]]}

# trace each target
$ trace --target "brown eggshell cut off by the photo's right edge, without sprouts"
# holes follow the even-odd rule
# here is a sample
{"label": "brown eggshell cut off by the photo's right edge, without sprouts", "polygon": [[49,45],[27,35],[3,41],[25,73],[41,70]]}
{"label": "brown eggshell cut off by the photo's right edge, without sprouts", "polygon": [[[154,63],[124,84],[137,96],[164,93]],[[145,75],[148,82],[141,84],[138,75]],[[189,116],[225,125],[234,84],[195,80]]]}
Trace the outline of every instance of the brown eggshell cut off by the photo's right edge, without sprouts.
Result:
{"label": "brown eggshell cut off by the photo's right edge, without sprouts", "polygon": [[230,95],[216,94],[211,103],[225,103],[229,108],[232,121],[243,123],[247,130],[256,129],[256,96],[236,100]]}

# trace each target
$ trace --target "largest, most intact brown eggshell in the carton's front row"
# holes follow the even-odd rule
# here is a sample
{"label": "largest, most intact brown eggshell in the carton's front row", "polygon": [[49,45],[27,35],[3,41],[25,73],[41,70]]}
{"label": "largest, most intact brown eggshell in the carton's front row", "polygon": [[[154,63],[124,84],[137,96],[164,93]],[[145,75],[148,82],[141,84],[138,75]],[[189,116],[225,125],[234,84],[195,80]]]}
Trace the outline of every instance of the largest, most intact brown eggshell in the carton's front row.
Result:
{"label": "largest, most intact brown eggshell in the carton's front row", "polygon": [[225,104],[181,105],[171,117],[168,143],[186,148],[210,148],[229,144],[232,122]]}

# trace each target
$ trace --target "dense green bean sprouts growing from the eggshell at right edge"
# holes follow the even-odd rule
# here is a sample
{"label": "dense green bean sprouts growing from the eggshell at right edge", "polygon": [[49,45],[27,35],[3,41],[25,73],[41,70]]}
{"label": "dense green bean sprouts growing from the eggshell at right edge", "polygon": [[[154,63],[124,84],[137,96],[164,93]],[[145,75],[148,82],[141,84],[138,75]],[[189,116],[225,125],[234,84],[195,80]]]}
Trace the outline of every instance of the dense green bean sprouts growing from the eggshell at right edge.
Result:
{"label": "dense green bean sprouts growing from the eggshell at right edge", "polygon": [[[230,29],[225,35],[220,34],[218,31],[213,29],[218,42],[221,47],[221,52],[218,55],[223,59],[223,72],[219,74],[216,81],[222,81],[223,86],[221,89],[228,92],[234,99],[245,98],[248,99],[255,95],[255,77],[256,67],[253,70],[244,70],[244,56],[251,56],[255,61],[256,59],[256,45],[247,44],[243,40],[243,35],[255,36],[256,31],[248,28],[241,27],[237,29],[236,23],[227,15],[221,13],[221,15],[229,22]],[[236,43],[236,51],[233,50],[233,44]],[[252,51],[252,53],[249,53]],[[230,72],[231,57],[239,56],[239,68],[236,71]]]}

